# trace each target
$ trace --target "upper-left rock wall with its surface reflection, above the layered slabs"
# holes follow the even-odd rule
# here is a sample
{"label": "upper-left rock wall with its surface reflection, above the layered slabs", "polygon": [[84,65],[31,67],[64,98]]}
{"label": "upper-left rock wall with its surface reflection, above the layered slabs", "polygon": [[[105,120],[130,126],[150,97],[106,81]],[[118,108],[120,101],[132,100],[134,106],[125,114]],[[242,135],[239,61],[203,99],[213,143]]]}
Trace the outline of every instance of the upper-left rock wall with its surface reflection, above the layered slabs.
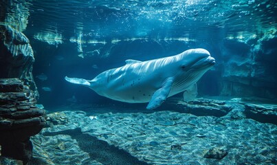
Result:
{"label": "upper-left rock wall with its surface reflection, above the layered slabs", "polygon": [[34,52],[22,33],[30,16],[30,1],[0,1],[0,78],[20,78],[38,98],[32,77]]}

